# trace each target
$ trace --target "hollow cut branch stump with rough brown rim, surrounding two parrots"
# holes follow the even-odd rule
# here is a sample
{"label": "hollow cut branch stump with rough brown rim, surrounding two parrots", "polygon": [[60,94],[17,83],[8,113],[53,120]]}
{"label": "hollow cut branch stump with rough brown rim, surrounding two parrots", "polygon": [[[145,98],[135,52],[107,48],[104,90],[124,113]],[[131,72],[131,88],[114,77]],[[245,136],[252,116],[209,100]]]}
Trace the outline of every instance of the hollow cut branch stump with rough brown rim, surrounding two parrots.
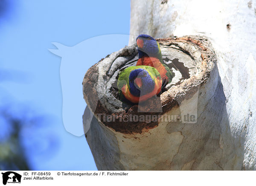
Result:
{"label": "hollow cut branch stump with rough brown rim, surrounding two parrots", "polygon": [[[83,116],[84,131],[98,169],[240,169],[242,158],[237,157],[227,122],[212,45],[207,39],[193,36],[158,41],[163,61],[176,67],[172,68],[172,86],[166,86],[169,89],[158,102],[149,99],[147,105],[127,105],[116,96],[119,71],[137,62],[136,45],[113,52],[84,76],[83,93],[88,105]],[[144,112],[139,111],[140,107]],[[157,114],[166,119],[106,121],[102,114],[121,118]],[[195,116],[195,120],[185,119],[187,114]]]}

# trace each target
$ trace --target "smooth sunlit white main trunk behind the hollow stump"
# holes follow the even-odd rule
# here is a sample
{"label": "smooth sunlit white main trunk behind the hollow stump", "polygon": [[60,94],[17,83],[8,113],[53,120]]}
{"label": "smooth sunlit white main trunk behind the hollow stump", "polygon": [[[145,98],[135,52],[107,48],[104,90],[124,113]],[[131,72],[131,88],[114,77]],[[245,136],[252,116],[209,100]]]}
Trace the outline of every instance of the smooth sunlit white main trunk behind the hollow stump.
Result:
{"label": "smooth sunlit white main trunk behind the hollow stump", "polygon": [[[213,104],[208,112],[222,110],[215,116],[220,131],[205,140],[197,165],[187,154],[192,152],[183,151],[176,156],[184,156],[183,163],[176,161],[172,169],[256,170],[256,1],[131,0],[130,34],[130,44],[139,34],[204,35],[217,55],[220,86],[212,102],[223,92],[224,105]],[[217,139],[221,156],[210,152]]]}

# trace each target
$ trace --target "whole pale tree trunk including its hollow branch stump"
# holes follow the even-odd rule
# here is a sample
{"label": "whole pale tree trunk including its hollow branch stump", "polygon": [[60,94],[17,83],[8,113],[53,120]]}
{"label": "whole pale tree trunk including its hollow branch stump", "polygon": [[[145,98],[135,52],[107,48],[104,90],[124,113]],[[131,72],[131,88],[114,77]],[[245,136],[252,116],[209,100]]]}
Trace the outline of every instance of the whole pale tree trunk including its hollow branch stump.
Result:
{"label": "whole pale tree trunk including its hollow branch stump", "polygon": [[[136,115],[140,106],[122,107],[110,91],[118,70],[136,61],[135,46],[111,54],[83,82],[90,108],[84,113],[84,128],[91,116],[86,137],[98,169],[256,170],[255,23],[252,1],[131,0],[130,44],[139,34],[180,37],[159,42],[165,63],[177,70],[177,82],[160,96],[161,115],[181,116],[181,121],[103,122],[96,113]],[[184,70],[189,70],[187,78]],[[97,77],[89,78],[91,74]],[[88,96],[91,90],[97,99]],[[186,114],[196,116],[195,121],[184,119]]]}

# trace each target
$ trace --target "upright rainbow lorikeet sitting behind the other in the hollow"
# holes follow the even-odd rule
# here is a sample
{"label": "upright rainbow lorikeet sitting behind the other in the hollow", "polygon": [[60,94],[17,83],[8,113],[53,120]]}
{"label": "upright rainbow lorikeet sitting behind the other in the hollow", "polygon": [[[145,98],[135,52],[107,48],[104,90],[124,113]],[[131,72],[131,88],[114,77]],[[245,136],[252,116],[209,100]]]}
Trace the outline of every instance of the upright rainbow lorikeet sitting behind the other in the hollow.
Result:
{"label": "upright rainbow lorikeet sitting behind the other in the hollow", "polygon": [[139,35],[136,41],[139,52],[139,60],[136,65],[146,65],[156,68],[163,79],[164,88],[166,84],[172,81],[173,74],[170,68],[163,63],[158,42],[150,35],[145,34]]}

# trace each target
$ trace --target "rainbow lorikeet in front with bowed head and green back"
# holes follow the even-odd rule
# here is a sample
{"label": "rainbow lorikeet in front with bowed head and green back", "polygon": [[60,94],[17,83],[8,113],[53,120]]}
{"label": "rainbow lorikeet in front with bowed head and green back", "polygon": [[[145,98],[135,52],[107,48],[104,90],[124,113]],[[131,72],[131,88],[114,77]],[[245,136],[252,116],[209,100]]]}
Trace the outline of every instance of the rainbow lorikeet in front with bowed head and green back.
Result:
{"label": "rainbow lorikeet in front with bowed head and green back", "polygon": [[121,99],[137,104],[160,93],[162,78],[154,67],[128,67],[119,74],[117,87]]}

